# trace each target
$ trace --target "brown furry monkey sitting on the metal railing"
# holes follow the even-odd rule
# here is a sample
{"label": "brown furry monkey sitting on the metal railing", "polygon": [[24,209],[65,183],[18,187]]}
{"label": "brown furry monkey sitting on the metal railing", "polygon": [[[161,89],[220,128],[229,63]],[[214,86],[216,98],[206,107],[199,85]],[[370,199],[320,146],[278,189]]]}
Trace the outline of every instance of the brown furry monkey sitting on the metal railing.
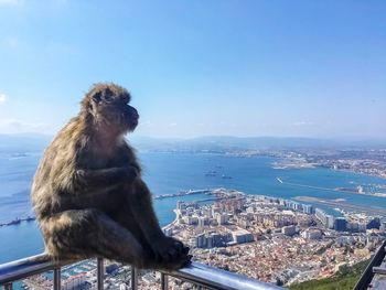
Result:
{"label": "brown furry monkey sitting on the metal railing", "polygon": [[43,153],[31,200],[53,260],[104,257],[175,270],[192,258],[160,228],[137,153],[125,139],[139,121],[130,100],[119,85],[95,84]]}

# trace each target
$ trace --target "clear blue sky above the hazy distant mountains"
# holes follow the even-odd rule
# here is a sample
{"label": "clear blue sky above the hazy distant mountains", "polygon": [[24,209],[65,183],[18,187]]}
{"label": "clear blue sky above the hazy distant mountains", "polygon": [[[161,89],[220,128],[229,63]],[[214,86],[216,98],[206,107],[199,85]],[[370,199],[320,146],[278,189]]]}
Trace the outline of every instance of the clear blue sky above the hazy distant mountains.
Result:
{"label": "clear blue sky above the hazy distant mountains", "polygon": [[93,83],[150,137],[385,138],[385,1],[0,0],[0,132],[54,133]]}

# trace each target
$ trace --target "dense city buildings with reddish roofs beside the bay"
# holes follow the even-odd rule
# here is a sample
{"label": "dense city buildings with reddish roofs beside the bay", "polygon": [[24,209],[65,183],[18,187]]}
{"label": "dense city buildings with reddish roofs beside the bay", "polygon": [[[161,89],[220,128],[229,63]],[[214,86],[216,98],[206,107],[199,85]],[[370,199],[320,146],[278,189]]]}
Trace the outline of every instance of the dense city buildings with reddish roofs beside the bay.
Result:
{"label": "dense city buildings with reddish roofs beside the bay", "polygon": [[386,224],[368,214],[332,215],[225,189],[213,194],[213,204],[179,203],[173,236],[191,246],[194,259],[262,281],[289,286],[330,277],[342,265],[369,258],[385,238]]}

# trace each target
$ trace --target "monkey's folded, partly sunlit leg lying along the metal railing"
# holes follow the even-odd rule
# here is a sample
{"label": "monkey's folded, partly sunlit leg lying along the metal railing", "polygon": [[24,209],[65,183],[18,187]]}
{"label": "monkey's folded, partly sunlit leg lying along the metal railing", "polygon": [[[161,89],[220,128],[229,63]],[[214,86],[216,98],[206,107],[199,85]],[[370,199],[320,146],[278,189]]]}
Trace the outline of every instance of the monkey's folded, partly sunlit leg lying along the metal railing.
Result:
{"label": "monkey's folded, partly sunlit leg lying along the metal railing", "polygon": [[97,210],[65,211],[44,221],[42,229],[56,259],[101,256],[140,268],[147,260],[137,238]]}

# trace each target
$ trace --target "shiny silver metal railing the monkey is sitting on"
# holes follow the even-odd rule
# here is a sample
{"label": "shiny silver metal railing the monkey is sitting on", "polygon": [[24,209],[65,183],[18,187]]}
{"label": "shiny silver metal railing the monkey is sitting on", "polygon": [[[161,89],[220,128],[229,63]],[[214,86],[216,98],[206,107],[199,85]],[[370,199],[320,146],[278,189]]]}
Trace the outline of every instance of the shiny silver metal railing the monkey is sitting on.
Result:
{"label": "shiny silver metal railing the monkey is sitting on", "polygon": [[[44,254],[0,265],[0,286],[6,290],[12,290],[12,282],[29,278],[31,276],[53,271],[53,289],[61,290],[61,268],[66,264],[55,264]],[[104,260],[97,259],[97,289],[104,289]],[[250,279],[210,267],[199,262],[192,262],[185,268],[176,271],[161,271],[161,289],[168,289],[168,277],[174,277],[197,286],[197,289],[218,290],[279,290],[283,289],[274,284]],[[131,267],[131,289],[138,289],[138,269]]]}

